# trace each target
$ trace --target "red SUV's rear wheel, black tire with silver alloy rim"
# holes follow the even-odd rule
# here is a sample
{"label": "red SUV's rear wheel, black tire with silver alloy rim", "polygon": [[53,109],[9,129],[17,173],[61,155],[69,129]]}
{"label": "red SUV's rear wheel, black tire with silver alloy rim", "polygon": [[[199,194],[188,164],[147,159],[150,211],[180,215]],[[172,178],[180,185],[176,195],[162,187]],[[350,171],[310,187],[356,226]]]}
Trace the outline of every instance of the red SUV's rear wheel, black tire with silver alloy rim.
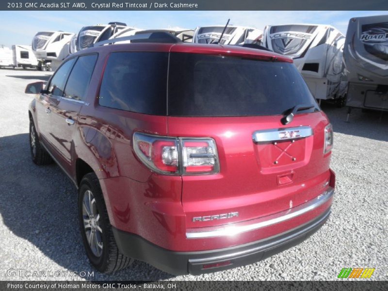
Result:
{"label": "red SUV's rear wheel, black tire with silver alloy rim", "polygon": [[94,173],[86,174],[81,180],[78,217],[86,255],[97,271],[112,273],[133,262],[133,259],[123,255],[117,247],[104,197]]}

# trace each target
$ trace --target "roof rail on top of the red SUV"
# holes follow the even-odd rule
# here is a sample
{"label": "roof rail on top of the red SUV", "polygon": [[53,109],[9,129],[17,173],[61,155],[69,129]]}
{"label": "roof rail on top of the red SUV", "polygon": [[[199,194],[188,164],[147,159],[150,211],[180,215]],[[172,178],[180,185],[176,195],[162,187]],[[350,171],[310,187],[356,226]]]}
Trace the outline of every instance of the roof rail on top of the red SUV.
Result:
{"label": "roof rail on top of the red SUV", "polygon": [[104,41],[97,42],[93,47],[99,47],[107,44],[114,44],[120,41],[128,41],[132,43],[179,43],[182,42],[178,37],[168,32],[150,32],[150,33],[139,33],[130,36],[117,37],[113,39],[107,39]]}

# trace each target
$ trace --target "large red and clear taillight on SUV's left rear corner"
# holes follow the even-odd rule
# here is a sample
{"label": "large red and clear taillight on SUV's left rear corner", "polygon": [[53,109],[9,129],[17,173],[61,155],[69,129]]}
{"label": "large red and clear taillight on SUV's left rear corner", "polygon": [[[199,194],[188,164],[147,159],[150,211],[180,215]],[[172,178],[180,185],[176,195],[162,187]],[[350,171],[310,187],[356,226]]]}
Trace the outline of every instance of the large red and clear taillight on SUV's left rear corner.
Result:
{"label": "large red and clear taillight on SUV's left rear corner", "polygon": [[163,175],[214,174],[220,170],[211,138],[170,138],[135,132],[133,149],[149,169]]}

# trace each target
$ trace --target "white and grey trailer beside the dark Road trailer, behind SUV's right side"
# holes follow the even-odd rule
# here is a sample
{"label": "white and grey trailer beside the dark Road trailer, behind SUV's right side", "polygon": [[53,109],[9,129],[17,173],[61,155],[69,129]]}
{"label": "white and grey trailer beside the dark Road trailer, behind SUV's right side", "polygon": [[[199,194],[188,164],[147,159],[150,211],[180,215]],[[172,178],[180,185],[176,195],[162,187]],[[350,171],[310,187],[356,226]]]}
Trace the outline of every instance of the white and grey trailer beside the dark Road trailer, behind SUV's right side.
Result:
{"label": "white and grey trailer beside the dark Road trailer, behind SUV's right side", "polygon": [[266,26],[261,44],[292,58],[316,99],[336,99],[342,106],[344,43],[344,35],[330,25],[288,24]]}

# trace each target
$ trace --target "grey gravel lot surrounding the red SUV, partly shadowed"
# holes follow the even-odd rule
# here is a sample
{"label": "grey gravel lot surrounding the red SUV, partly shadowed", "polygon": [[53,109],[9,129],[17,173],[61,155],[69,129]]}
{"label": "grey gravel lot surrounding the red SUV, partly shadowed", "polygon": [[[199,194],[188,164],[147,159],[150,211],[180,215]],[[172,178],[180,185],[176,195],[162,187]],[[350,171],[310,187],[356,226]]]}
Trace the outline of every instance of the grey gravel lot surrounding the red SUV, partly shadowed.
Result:
{"label": "grey gravel lot surrounding the red SUV, partly shadowed", "polygon": [[[76,189],[56,165],[30,158],[25,85],[48,72],[0,69],[0,280],[335,280],[342,268],[372,267],[388,279],[388,113],[323,105],[335,131],[333,212],[307,241],[256,264],[201,276],[163,273],[135,262],[113,275],[7,276],[9,269],[93,272],[77,222]],[[57,273],[58,275],[58,273]]]}

